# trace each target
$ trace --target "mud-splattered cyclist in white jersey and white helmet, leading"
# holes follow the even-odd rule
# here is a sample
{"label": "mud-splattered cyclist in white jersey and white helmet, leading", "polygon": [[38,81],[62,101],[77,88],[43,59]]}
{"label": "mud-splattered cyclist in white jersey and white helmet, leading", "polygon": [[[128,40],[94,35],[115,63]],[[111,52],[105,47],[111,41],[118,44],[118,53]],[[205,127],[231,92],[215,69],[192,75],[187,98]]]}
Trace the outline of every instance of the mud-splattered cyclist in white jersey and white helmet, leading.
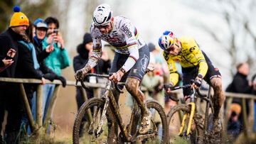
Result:
{"label": "mud-splattered cyclist in white jersey and white helmet, leading", "polygon": [[102,56],[102,40],[113,45],[115,54],[109,79],[114,82],[125,82],[127,91],[142,109],[139,133],[145,134],[150,128],[151,113],[146,108],[145,96],[139,89],[139,84],[149,65],[149,48],[128,18],[112,16],[108,4],[97,6],[93,13],[93,21],[90,27],[93,40],[92,55],[85,67],[75,73],[75,79],[83,79],[85,74],[97,65]]}

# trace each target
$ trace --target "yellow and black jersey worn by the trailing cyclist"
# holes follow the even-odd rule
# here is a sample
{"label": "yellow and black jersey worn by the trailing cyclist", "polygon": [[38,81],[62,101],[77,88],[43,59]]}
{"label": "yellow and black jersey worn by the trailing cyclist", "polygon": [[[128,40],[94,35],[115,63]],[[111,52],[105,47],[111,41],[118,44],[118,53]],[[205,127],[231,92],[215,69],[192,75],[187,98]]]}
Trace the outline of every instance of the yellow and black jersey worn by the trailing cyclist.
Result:
{"label": "yellow and black jersey worn by the trailing cyclist", "polygon": [[170,82],[174,85],[178,82],[178,74],[176,73],[175,62],[181,64],[181,67],[197,67],[198,74],[201,74],[203,77],[206,75],[208,70],[208,65],[206,59],[203,56],[203,53],[198,47],[196,40],[190,37],[183,36],[178,38],[181,42],[181,52],[176,55],[170,55],[169,53],[163,52],[164,59],[167,62],[169,72],[170,72]]}

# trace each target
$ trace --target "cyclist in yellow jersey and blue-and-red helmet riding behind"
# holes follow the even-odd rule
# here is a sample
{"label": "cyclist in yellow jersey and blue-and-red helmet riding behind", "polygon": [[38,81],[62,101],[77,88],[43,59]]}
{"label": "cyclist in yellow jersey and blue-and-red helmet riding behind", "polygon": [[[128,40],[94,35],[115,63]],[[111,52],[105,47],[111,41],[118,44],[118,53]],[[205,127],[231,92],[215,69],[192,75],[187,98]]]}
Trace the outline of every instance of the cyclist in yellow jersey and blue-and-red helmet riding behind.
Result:
{"label": "cyclist in yellow jersey and blue-and-red helmet riding behind", "polygon": [[[167,62],[170,72],[170,84],[175,86],[178,82],[178,73],[175,62],[179,62],[182,67],[183,84],[189,84],[191,79],[195,79],[192,87],[198,89],[202,80],[206,80],[214,90],[213,106],[214,106],[214,129],[219,132],[221,129],[219,112],[220,107],[225,100],[222,88],[221,75],[218,68],[214,67],[206,54],[199,49],[196,40],[190,37],[182,36],[176,38],[171,31],[165,31],[159,38],[159,46],[164,50],[164,59]],[[170,89],[167,90],[170,92]],[[188,96],[191,90],[183,89],[184,96]]]}

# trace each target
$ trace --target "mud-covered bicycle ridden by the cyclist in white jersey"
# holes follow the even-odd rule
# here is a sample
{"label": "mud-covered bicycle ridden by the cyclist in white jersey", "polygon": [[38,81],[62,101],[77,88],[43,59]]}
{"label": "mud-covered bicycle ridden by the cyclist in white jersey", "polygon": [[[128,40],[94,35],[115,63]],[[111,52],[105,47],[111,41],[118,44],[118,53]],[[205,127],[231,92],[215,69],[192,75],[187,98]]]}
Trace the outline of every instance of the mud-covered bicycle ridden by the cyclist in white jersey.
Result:
{"label": "mud-covered bicycle ridden by the cyclist in white jersey", "polygon": [[[87,74],[86,77],[105,77],[105,74]],[[85,84],[81,82],[82,87]],[[156,101],[147,101],[146,106],[151,111],[152,117],[154,114],[160,116],[161,121],[154,121],[151,118],[151,128],[149,133],[139,135],[139,121],[141,118],[140,109],[136,102],[134,102],[131,118],[127,126],[124,125],[121,114],[119,113],[119,105],[117,103],[117,92],[122,92],[119,89],[124,86],[124,83],[114,84],[112,80],[107,80],[104,94],[100,98],[92,98],[85,101],[80,107],[78,114],[75,118],[73,127],[73,143],[86,143],[82,142],[80,138],[80,125],[82,119],[86,117],[83,135],[89,138],[84,138],[87,143],[167,143],[168,129],[166,114],[164,109]],[[115,124],[117,123],[117,124]],[[160,128],[161,126],[161,128]],[[118,128],[120,133],[118,134]],[[117,140],[113,141],[114,138]],[[107,140],[106,140],[107,139]],[[88,141],[89,140],[89,141]]]}

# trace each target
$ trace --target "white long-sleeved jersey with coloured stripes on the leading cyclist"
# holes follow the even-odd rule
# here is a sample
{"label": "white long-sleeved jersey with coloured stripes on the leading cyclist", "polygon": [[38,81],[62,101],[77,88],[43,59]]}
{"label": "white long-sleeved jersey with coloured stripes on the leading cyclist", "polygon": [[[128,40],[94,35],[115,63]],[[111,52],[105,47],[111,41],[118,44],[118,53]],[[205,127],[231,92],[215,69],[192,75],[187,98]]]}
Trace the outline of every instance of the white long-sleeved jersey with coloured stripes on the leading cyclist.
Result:
{"label": "white long-sleeved jersey with coloured stripes on the leading cyclist", "polygon": [[124,16],[114,17],[114,24],[110,33],[100,33],[100,30],[94,26],[94,23],[92,23],[90,27],[90,33],[93,40],[94,55],[101,52],[101,40],[110,43],[110,45],[114,46],[116,52],[122,54],[129,54],[129,48],[137,47],[139,50],[139,48],[142,48],[145,45],[137,28],[135,28],[132,22]]}

